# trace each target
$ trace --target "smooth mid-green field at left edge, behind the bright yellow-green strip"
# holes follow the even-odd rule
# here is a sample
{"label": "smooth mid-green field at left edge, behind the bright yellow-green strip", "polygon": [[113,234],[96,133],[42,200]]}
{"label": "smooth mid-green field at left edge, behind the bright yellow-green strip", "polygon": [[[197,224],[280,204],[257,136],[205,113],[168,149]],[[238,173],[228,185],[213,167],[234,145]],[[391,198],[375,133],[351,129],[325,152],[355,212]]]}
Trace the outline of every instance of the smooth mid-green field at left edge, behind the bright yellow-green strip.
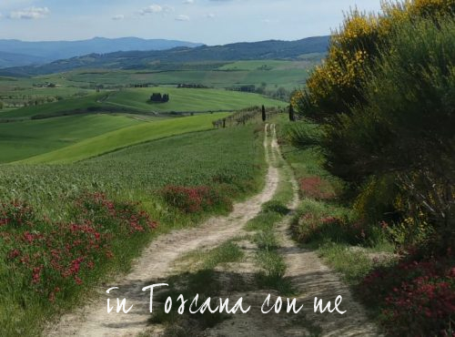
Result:
{"label": "smooth mid-green field at left edge, behind the bright yellow-green strip", "polygon": [[65,148],[139,120],[113,115],[85,115],[0,123],[0,163],[21,160]]}

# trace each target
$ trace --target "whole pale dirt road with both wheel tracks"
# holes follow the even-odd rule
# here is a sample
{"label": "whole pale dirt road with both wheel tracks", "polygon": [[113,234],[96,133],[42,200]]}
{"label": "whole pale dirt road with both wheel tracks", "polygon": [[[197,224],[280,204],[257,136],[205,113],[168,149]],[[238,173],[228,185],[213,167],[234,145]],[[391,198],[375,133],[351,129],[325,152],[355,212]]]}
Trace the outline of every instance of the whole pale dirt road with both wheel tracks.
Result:
{"label": "whole pale dirt road with both wheel tracks", "polygon": [[[166,280],[173,274],[176,261],[193,250],[209,249],[221,243],[240,237],[246,232],[243,230],[248,222],[258,215],[261,205],[272,199],[277,191],[280,179],[284,177],[280,170],[273,165],[282,159],[278,147],[276,129],[274,125],[266,126],[264,147],[268,161],[268,174],[265,188],[252,199],[235,205],[234,210],[227,217],[217,217],[207,220],[196,229],[178,230],[154,240],[141,257],[134,263],[132,271],[110,282],[100,289],[100,296],[87,304],[86,307],[64,315],[59,322],[50,325],[44,332],[48,336],[136,336],[147,330],[149,313],[149,293],[142,288],[158,280]],[[286,176],[286,175],[285,175]],[[287,175],[294,189],[294,198],[288,205],[289,209],[298,206],[297,182],[292,174]],[[288,182],[289,182],[288,181]],[[298,294],[298,302],[304,304],[304,312],[298,317],[291,315],[264,315],[260,313],[260,304],[264,301],[267,292],[249,291],[236,294],[236,297],[248,297],[248,303],[259,310],[251,314],[235,315],[231,319],[220,323],[213,329],[207,330],[207,336],[377,336],[377,327],[369,322],[363,307],[352,298],[349,288],[339,280],[339,276],[320,260],[312,250],[302,250],[291,239],[288,228],[292,213],[289,214],[277,227],[280,242],[279,253],[287,264],[286,277]],[[246,254],[254,257],[254,247],[249,247]],[[237,277],[242,272],[251,274],[255,268],[251,261],[242,262],[242,266],[231,266]],[[106,311],[107,288],[118,287],[113,292],[120,299],[127,299],[127,306],[134,305],[132,311],[125,313],[108,314]],[[278,295],[278,294],[275,294]],[[342,310],[345,315],[315,314],[313,311],[314,297],[318,296],[327,301],[333,301],[338,295],[343,296]],[[154,330],[148,330],[152,335]]]}

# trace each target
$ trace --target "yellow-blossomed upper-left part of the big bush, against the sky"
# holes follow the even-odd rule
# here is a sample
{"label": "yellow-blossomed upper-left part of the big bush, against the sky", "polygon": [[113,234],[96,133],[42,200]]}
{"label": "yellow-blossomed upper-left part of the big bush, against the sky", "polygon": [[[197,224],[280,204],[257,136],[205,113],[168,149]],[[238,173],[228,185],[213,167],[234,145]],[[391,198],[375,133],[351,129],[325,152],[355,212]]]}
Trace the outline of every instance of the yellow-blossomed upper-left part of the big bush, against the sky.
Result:
{"label": "yellow-blossomed upper-left part of the big bush, against the sky", "polygon": [[359,87],[394,26],[412,17],[439,15],[455,15],[455,0],[389,1],[379,15],[353,11],[333,34],[326,60],[313,70],[307,88],[291,97],[291,104],[313,117],[346,112],[352,103],[362,101]]}

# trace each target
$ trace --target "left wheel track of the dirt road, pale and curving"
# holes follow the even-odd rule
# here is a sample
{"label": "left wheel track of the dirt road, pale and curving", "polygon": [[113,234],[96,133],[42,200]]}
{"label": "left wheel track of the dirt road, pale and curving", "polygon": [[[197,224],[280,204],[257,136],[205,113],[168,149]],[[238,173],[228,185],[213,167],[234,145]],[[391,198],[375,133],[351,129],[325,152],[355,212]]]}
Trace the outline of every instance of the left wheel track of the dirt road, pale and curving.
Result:
{"label": "left wheel track of the dirt road, pale and curving", "polygon": [[[266,126],[264,145],[269,141],[269,129]],[[267,151],[266,151],[267,152]],[[142,288],[154,284],[155,280],[165,278],[172,271],[172,264],[181,255],[191,250],[217,246],[223,241],[238,236],[248,220],[260,211],[278,186],[278,168],[269,166],[265,188],[256,197],[234,205],[234,210],[227,217],[207,220],[196,229],[178,230],[154,240],[136,260],[132,271],[112,281],[106,289],[100,289],[101,296],[73,313],[64,315],[59,322],[50,325],[44,332],[47,336],[135,336],[147,328],[149,313],[149,294]],[[127,308],[134,305],[128,314],[110,314],[106,311],[107,295],[104,291],[111,287],[119,290],[112,292],[120,299],[126,298]],[[113,296],[111,295],[110,298]]]}

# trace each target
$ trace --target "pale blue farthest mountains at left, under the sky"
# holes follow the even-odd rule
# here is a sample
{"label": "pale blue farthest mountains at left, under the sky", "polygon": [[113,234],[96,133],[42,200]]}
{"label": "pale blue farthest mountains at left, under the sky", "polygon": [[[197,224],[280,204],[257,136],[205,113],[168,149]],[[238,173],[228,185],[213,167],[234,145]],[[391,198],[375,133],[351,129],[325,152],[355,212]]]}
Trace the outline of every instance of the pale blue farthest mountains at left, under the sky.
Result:
{"label": "pale blue farthest mountains at left, under the sky", "polygon": [[131,50],[165,50],[179,46],[195,47],[202,44],[137,37],[95,37],[81,41],[26,42],[0,40],[0,67],[42,65],[59,59],[87,54],[106,54]]}

